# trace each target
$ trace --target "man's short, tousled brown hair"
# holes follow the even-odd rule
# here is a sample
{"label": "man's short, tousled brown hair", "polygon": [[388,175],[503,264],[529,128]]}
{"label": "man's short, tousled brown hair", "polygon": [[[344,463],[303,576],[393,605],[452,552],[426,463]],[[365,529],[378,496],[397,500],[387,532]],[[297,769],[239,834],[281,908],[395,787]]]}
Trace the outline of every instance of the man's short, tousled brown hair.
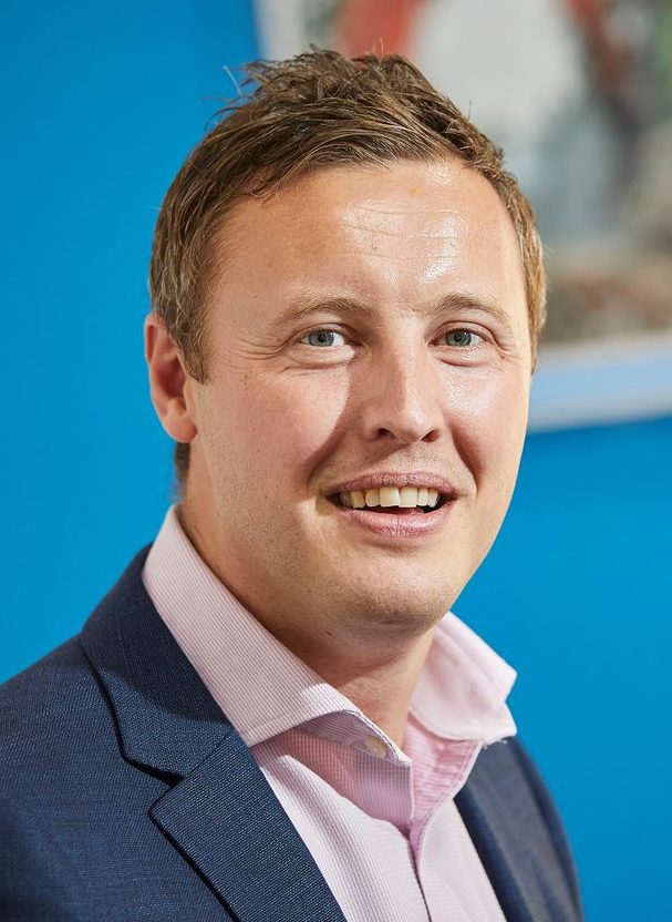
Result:
{"label": "man's short, tousled brown hair", "polygon": [[[312,49],[245,68],[254,92],[234,101],[187,157],[164,199],[152,249],[153,309],[197,380],[208,379],[208,290],[224,266],[215,242],[231,206],[270,196],[329,166],[435,162],[456,155],[482,173],[504,203],[520,245],[533,362],[546,319],[541,243],[531,207],[502,150],[397,54],[344,58]],[[226,256],[225,256],[226,258]],[[184,483],[189,447],[177,444]]]}

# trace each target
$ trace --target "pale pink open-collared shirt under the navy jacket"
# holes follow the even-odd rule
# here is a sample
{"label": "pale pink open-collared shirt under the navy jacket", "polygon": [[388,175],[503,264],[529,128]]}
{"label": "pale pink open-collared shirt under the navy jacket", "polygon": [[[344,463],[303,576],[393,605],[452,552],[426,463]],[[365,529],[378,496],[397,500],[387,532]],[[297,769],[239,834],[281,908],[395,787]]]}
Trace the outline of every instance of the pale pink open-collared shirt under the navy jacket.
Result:
{"label": "pale pink open-collared shirt under the navy jacket", "polygon": [[482,747],[516,733],[505,704],[516,674],[494,650],[443,618],[402,751],[231,595],[175,508],[143,580],[349,922],[504,922],[453,800]]}

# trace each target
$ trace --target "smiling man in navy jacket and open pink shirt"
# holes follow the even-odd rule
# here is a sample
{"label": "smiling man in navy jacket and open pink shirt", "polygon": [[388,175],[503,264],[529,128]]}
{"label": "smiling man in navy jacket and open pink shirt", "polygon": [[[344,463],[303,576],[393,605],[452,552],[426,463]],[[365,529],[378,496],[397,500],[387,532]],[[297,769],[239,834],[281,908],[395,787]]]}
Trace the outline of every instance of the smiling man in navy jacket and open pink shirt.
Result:
{"label": "smiling man in navy jacket and open pink shirt", "polygon": [[445,615],[517,474],[531,213],[403,59],[252,74],[156,228],[182,501],[2,690],[2,918],[577,920],[514,673]]}

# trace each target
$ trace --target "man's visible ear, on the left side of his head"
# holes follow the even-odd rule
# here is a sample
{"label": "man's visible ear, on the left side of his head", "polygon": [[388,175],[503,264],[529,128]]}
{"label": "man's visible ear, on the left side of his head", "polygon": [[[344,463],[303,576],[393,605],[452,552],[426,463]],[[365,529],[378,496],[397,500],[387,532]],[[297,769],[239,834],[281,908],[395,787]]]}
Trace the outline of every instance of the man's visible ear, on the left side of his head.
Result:
{"label": "man's visible ear, on the left side of his head", "polygon": [[161,424],[176,442],[190,442],[198,431],[188,400],[192,378],[180,350],[156,314],[149,314],[145,320],[145,359],[152,402]]}

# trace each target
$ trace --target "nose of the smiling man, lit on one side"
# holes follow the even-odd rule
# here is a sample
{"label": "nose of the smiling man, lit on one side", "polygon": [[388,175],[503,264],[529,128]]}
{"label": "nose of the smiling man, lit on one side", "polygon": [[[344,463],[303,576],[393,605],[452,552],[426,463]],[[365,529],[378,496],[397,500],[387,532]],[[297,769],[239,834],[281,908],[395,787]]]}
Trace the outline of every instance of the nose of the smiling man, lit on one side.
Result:
{"label": "nose of the smiling man, lit on one side", "polygon": [[433,442],[445,428],[445,391],[438,362],[425,344],[386,349],[371,359],[362,382],[368,441]]}

